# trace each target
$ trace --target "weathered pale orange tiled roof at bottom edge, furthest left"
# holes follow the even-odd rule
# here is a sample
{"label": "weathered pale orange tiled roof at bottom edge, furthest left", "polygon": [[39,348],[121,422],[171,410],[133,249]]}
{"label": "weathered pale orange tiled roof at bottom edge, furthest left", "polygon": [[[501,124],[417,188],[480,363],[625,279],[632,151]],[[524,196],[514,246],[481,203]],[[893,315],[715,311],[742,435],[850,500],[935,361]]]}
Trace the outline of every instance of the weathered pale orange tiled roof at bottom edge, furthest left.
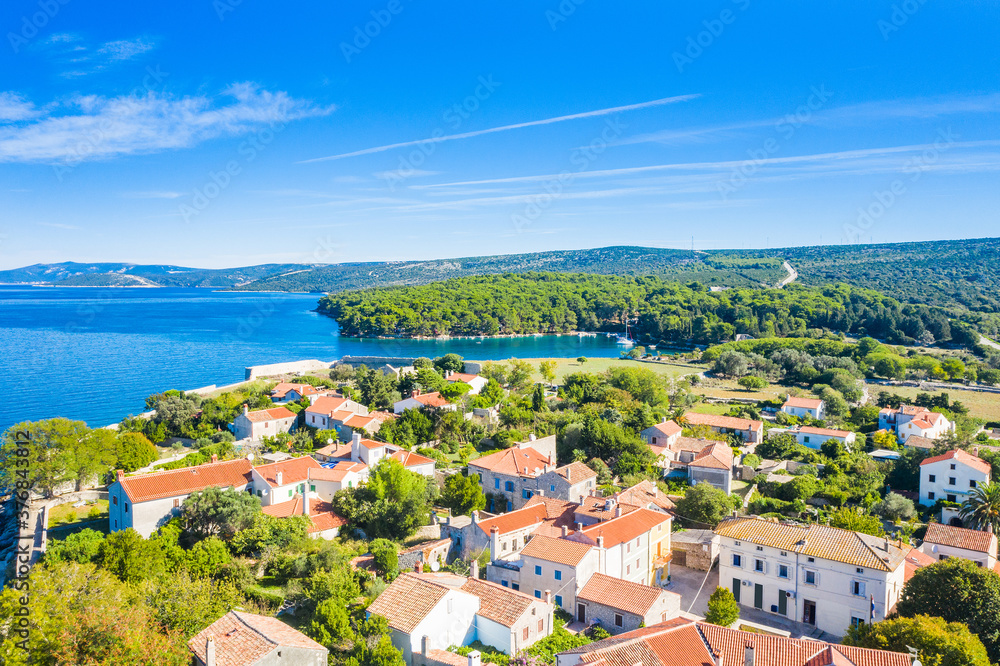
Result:
{"label": "weathered pale orange tiled roof at bottom edge, furthest left", "polygon": [[249,666],[279,647],[327,652],[325,647],[281,620],[240,611],[226,613],[188,641],[188,648],[201,663],[207,663],[210,636],[215,639],[218,666]]}

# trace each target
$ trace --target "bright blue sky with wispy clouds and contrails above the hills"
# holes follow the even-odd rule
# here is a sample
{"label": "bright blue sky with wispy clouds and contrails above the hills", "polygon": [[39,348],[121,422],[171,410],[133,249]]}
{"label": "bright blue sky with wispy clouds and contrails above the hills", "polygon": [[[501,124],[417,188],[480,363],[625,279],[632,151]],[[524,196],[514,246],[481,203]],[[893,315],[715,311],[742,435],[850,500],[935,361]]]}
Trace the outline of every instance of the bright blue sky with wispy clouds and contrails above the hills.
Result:
{"label": "bright blue sky with wispy clouds and contrails above the hills", "polygon": [[995,236],[997,25],[985,1],[7,2],[0,268]]}

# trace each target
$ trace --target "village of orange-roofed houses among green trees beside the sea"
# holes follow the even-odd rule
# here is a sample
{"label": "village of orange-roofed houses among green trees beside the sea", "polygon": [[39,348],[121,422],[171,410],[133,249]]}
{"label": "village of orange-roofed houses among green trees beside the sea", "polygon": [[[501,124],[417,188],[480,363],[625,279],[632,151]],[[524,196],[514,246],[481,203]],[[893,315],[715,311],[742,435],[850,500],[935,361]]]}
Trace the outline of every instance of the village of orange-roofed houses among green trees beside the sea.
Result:
{"label": "village of orange-roofed houses among green trees beside the sea", "polygon": [[104,429],[21,424],[5,447],[78,437],[107,471],[32,477],[20,537],[36,575],[200,578],[178,663],[912,666],[864,637],[946,621],[992,660],[983,618],[925,597],[1000,593],[1000,432],[947,395],[875,395],[873,340],[827,385],[737,344],[295,362]]}

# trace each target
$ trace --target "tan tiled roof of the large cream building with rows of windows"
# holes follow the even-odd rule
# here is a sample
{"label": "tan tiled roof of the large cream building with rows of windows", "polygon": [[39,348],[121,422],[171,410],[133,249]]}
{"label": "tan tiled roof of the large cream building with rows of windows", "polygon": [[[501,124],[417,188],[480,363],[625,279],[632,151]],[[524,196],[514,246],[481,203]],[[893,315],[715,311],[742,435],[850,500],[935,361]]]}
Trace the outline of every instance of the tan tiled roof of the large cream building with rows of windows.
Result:
{"label": "tan tiled roof of the large cream building with rows of windows", "polygon": [[[715,533],[761,546],[821,557],[880,571],[895,571],[903,564],[909,547],[860,532],[825,525],[791,525],[764,518],[727,518]],[[888,551],[885,544],[889,544]]]}

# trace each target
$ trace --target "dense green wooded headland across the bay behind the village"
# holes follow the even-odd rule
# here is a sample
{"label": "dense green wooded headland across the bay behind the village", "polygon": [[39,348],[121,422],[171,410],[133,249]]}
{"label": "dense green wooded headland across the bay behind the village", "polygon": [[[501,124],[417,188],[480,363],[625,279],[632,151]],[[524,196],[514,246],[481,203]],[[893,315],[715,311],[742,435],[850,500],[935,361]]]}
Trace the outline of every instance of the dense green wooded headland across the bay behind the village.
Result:
{"label": "dense green wooded headland across the bay behind the village", "polygon": [[824,331],[899,344],[928,333],[965,346],[978,340],[940,310],[843,284],[713,292],[653,276],[522,273],[342,292],[322,298],[320,311],[344,335],[365,337],[620,331],[630,313],[636,335],[653,342],[714,344],[738,333]]}

